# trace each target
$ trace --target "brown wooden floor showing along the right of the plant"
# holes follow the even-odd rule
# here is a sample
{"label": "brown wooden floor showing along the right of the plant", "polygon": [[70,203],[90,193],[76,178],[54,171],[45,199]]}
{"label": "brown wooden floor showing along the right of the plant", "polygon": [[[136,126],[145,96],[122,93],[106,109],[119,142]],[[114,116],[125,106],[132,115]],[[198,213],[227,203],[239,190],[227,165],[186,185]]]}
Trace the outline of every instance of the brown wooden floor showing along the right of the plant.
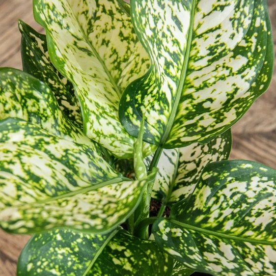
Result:
{"label": "brown wooden floor showing along the right of the plant", "polygon": [[[276,1],[268,0],[276,53]],[[232,128],[231,159],[261,162],[276,169],[276,59],[272,83]]]}

